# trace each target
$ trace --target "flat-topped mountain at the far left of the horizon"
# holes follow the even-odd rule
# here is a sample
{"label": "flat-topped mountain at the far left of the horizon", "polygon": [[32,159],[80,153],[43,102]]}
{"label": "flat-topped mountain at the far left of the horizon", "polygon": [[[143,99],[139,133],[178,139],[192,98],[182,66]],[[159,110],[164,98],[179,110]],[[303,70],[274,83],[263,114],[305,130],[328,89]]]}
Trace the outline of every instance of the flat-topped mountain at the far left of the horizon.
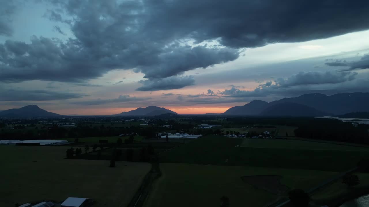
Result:
{"label": "flat-topped mountain at the far left of the horizon", "polygon": [[44,109],[39,108],[36,105],[28,105],[19,109],[8,109],[0,112],[0,117],[7,118],[34,118],[34,117],[62,117],[63,115],[48,112]]}

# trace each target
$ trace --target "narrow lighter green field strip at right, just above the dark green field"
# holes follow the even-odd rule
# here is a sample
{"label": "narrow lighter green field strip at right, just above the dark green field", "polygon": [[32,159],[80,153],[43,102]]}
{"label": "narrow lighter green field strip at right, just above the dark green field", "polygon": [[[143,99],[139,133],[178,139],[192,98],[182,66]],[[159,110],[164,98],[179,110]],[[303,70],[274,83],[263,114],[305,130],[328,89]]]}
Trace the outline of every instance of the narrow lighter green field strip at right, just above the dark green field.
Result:
{"label": "narrow lighter green field strip at right, just above the dark green field", "polygon": [[369,147],[355,147],[333,143],[319,143],[303,140],[286,139],[254,139],[246,138],[240,147],[251,148],[280,148],[280,149],[301,149],[301,150],[349,150],[349,151],[369,151]]}

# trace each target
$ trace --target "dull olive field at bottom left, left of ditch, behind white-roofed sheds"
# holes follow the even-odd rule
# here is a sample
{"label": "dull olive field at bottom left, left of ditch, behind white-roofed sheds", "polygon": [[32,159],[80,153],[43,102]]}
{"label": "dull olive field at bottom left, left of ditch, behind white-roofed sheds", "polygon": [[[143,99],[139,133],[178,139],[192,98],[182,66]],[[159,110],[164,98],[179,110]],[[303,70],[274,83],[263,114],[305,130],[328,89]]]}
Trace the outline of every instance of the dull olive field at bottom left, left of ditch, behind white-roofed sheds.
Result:
{"label": "dull olive field at bottom left, left of ditch, behind white-roofed sheds", "polygon": [[[0,206],[86,197],[97,207],[127,206],[151,166],[147,163],[64,159],[68,147],[0,146]],[[6,159],[5,159],[6,158]]]}

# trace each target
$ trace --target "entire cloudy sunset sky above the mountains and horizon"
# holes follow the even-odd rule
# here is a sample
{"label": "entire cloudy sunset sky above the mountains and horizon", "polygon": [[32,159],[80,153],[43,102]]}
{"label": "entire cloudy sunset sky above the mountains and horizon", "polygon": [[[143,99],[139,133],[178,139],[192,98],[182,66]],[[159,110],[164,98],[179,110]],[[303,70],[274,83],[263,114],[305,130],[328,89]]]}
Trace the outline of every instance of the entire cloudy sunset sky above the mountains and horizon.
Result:
{"label": "entire cloudy sunset sky above the mountains and horizon", "polygon": [[369,1],[0,0],[0,110],[161,106],[369,92]]}

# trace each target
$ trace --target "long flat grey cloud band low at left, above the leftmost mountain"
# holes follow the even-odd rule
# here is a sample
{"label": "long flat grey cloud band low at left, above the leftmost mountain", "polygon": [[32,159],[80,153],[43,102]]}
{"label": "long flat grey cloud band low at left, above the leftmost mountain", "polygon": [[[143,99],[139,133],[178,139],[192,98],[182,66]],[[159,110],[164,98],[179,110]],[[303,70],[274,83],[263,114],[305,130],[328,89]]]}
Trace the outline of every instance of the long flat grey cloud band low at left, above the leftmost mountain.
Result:
{"label": "long flat grey cloud band low at left, above the leftmost mountain", "polygon": [[88,95],[45,90],[0,90],[0,101],[58,101],[86,96]]}

